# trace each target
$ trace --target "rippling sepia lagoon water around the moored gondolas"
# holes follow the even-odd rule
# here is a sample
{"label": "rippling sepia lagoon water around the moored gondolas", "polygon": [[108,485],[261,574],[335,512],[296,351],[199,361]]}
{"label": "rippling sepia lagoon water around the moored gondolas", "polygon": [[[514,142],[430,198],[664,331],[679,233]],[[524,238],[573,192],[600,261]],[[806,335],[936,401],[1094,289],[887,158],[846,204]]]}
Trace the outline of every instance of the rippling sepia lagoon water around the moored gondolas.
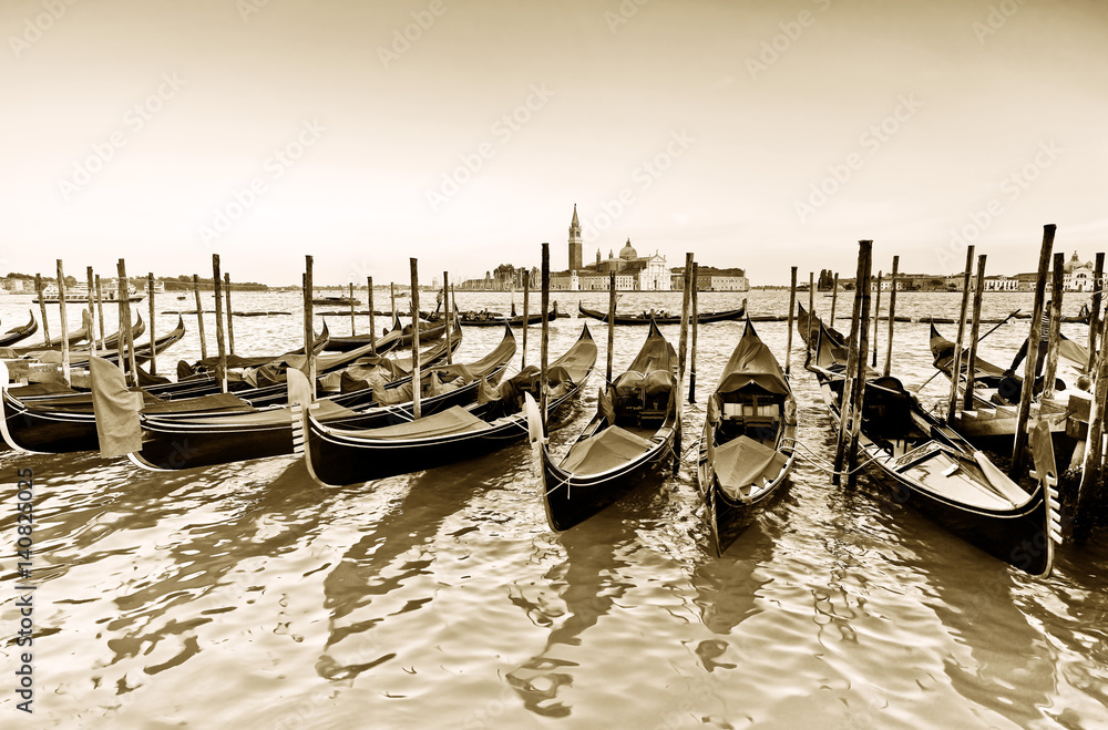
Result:
{"label": "rippling sepia lagoon water around the moored gondolas", "polygon": [[[586,306],[607,308],[606,295],[582,296]],[[787,309],[787,291],[704,294],[700,306],[731,308],[743,297],[753,313]],[[575,316],[575,292],[554,298]],[[807,306],[808,295],[801,298]],[[466,309],[506,311],[509,299],[459,295]],[[297,311],[298,300],[236,292],[235,309]],[[953,317],[960,300],[902,292],[897,313]],[[382,301],[378,294],[387,308]],[[522,296],[515,301],[522,307]],[[817,295],[817,310],[825,316],[830,301]],[[23,323],[29,302],[0,298],[2,329]],[[1068,297],[1066,311],[1081,302]],[[882,309],[886,304],[884,295]],[[173,292],[157,298],[160,312],[191,306],[191,294],[187,301]],[[145,316],[146,302],[140,307]],[[678,311],[680,295],[620,298],[620,310],[650,307]],[[849,307],[848,294],[838,302],[840,321]],[[1030,295],[989,295],[985,316],[1018,307],[1029,310]],[[175,321],[160,315],[156,329]],[[359,330],[367,321],[359,318]],[[552,358],[584,321],[552,323]],[[588,421],[603,378],[605,326],[587,321],[599,346],[597,371],[553,434],[556,453]],[[349,318],[328,322],[349,333]],[[982,357],[1006,367],[1028,325],[1002,327],[982,343]],[[160,371],[198,356],[195,316],[186,326]],[[301,337],[296,315],[235,318],[234,327],[244,354],[277,353]],[[686,444],[699,438],[705,397],[739,329],[724,322],[699,330]],[[757,329],[783,364],[786,325]],[[954,326],[941,329],[953,338]],[[1086,337],[1080,325],[1064,331]],[[211,316],[207,332],[212,352]],[[676,345],[677,328],[664,332]],[[501,333],[466,328],[456,359],[481,357]],[[529,333],[532,363],[538,335]],[[617,328],[616,372],[645,336],[645,328]],[[897,323],[895,338],[894,373],[917,385],[934,372],[927,326]],[[797,362],[801,352],[794,338],[799,436],[827,457],[829,420],[814,378]],[[1071,368],[1063,376],[1073,382]],[[935,378],[922,400],[937,402],[947,389]],[[1060,548],[1055,575],[1036,580],[881,498],[868,477],[855,491],[835,487],[801,459],[776,505],[717,558],[688,464],[554,535],[529,460],[521,443],[454,466],[321,487],[293,457],[165,474],[94,453],[3,452],[2,724],[1108,726],[1102,538]],[[38,517],[33,716],[14,707],[12,672],[27,650],[13,639],[16,469],[33,470]]]}

